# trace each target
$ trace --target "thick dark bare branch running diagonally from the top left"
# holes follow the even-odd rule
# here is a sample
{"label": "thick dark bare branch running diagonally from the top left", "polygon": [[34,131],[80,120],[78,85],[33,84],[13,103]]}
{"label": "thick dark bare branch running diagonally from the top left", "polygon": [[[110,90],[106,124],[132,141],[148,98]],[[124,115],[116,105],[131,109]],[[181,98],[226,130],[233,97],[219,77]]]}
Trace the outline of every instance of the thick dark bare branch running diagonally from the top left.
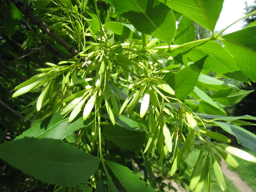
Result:
{"label": "thick dark bare branch running diagonally from the top left", "polygon": [[35,24],[37,27],[39,27],[42,31],[44,31],[46,34],[48,34],[50,37],[52,37],[55,41],[57,41],[58,44],[63,46],[69,53],[71,53],[73,56],[76,56],[79,52],[70,44],[68,44],[62,37],[58,36],[51,28],[48,27],[40,19],[39,16],[35,15],[31,9],[27,7],[26,4],[24,4],[21,0],[12,0],[12,2],[15,4],[15,6],[26,16],[30,19],[32,24]]}

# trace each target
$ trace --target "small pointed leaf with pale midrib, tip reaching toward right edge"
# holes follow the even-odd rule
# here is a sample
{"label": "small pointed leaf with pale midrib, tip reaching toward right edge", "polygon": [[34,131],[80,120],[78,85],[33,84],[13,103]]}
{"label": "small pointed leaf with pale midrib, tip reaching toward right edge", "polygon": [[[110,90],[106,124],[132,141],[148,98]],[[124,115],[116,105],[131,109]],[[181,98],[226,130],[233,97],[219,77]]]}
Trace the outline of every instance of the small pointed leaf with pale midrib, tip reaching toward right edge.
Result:
{"label": "small pointed leaf with pale midrib, tip reaching toward right edge", "polygon": [[245,90],[233,89],[233,88],[220,89],[215,93],[213,93],[210,96],[210,98],[224,105],[235,105],[251,92],[254,92],[254,90],[245,91]]}

